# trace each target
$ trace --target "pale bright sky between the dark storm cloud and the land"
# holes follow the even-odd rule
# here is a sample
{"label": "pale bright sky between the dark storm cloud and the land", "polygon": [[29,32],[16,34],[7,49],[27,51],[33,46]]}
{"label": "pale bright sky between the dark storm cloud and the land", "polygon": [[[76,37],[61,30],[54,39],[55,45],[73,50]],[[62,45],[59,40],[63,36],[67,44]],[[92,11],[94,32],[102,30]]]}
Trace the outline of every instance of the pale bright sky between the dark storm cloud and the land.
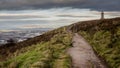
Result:
{"label": "pale bright sky between the dark storm cloud and the land", "polygon": [[[119,17],[118,11],[104,11],[105,18]],[[81,8],[49,8],[0,11],[0,31],[58,28],[78,21],[100,19],[101,11]]]}

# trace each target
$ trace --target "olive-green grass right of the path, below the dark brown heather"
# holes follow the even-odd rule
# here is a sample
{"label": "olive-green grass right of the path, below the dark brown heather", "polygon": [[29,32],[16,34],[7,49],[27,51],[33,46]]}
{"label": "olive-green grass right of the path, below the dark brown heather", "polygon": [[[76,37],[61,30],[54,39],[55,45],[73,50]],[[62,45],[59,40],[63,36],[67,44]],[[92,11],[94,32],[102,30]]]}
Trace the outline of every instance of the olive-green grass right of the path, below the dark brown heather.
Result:
{"label": "olive-green grass right of the path, below the dark brown heather", "polygon": [[[111,68],[120,67],[120,27],[112,35],[110,30],[96,31],[91,35],[87,31],[79,31],[99,56],[104,58]],[[117,37],[116,37],[117,36]]]}

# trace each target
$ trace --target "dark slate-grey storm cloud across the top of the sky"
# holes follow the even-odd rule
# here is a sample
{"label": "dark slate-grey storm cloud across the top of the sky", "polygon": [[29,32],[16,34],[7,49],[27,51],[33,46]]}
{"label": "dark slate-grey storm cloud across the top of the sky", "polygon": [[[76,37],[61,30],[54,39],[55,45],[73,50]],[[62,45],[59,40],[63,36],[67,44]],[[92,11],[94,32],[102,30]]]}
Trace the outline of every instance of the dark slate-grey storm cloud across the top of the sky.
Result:
{"label": "dark slate-grey storm cloud across the top of the sky", "polygon": [[120,0],[0,0],[0,9],[76,7],[120,11]]}

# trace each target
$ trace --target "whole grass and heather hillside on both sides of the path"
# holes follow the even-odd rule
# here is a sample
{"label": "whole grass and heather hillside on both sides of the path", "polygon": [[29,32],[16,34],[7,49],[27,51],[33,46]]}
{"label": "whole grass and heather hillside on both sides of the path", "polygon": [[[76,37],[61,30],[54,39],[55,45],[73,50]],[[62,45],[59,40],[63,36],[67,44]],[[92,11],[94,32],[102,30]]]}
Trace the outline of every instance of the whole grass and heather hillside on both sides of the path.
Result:
{"label": "whole grass and heather hillside on both sides of the path", "polygon": [[82,35],[111,68],[120,67],[120,18],[78,22],[20,43],[0,46],[2,68],[70,68],[72,33]]}

